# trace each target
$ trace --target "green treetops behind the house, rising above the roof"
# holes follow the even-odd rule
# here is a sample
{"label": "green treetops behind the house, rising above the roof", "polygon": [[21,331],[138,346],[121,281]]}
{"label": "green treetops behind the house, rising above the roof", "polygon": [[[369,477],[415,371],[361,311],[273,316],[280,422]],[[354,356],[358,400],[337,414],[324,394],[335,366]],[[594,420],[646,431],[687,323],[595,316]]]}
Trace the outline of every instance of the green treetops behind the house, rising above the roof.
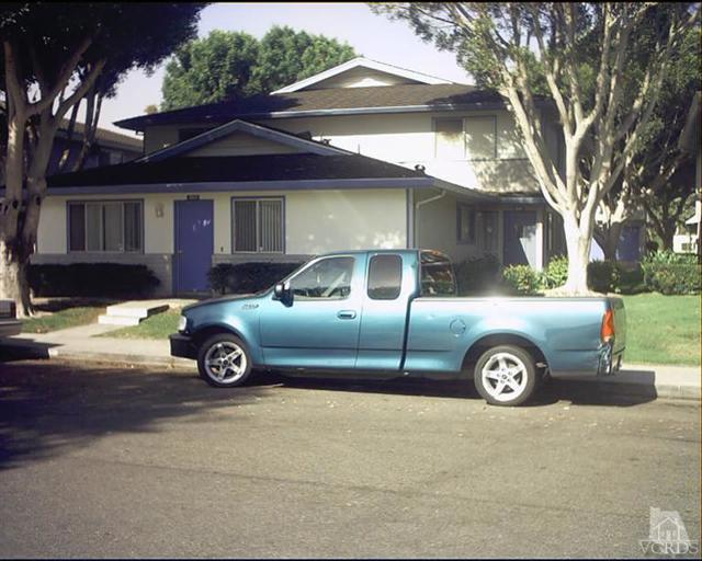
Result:
{"label": "green treetops behind the house, rising above the roof", "polygon": [[213,31],[169,61],[161,110],[269,93],[355,56],[346,43],[288,26],[271,27],[260,42],[244,32]]}

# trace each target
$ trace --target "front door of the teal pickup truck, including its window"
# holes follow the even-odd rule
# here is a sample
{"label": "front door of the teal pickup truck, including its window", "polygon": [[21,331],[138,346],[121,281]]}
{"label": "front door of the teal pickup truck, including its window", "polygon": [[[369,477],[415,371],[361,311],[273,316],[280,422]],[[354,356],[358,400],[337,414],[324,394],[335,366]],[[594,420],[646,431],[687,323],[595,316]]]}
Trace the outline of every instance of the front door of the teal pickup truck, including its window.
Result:
{"label": "front door of the teal pickup truck, including its window", "polygon": [[353,368],[359,345],[365,255],[313,261],[290,279],[292,302],[261,310],[268,366]]}

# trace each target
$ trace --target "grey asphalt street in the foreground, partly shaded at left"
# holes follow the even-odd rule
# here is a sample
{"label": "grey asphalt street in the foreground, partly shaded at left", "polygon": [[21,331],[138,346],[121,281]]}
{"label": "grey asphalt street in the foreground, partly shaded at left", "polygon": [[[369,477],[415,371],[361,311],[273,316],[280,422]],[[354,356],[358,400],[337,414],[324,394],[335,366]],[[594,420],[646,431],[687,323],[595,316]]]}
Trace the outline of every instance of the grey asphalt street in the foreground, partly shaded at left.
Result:
{"label": "grey asphalt street in the foreground, partly shaded at left", "polygon": [[642,557],[652,507],[700,539],[699,403],[0,363],[1,558]]}

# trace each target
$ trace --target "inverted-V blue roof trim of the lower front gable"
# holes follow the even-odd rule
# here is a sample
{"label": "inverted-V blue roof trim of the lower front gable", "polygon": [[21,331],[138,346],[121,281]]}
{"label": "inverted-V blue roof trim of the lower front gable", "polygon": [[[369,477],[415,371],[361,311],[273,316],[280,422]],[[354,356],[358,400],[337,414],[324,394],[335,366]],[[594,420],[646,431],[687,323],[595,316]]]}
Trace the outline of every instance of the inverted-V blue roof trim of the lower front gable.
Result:
{"label": "inverted-V blue roof trim of the lower front gable", "polygon": [[176,156],[195,150],[196,148],[205,146],[210,142],[214,142],[234,133],[245,133],[257,138],[263,138],[276,144],[297,148],[303,152],[310,152],[320,156],[348,153],[347,150],[341,150],[339,148],[335,148],[332,146],[328,146],[314,140],[307,140],[284,130],[265,127],[263,125],[257,125],[253,123],[247,123],[246,121],[237,118],[211,130],[206,130],[205,133],[194,136],[193,138],[183,140],[182,142],[179,142],[174,146],[169,146],[161,150],[157,150],[156,152],[151,152],[143,158],[139,158],[137,162],[157,162],[167,158],[173,158]]}

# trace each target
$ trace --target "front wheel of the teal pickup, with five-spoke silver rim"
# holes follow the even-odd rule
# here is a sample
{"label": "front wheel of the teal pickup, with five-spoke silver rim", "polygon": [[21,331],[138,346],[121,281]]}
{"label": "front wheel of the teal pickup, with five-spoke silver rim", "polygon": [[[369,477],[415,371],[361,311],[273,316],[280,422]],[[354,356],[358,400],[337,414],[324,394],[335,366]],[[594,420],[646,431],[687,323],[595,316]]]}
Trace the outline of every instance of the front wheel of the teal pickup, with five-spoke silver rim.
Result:
{"label": "front wheel of the teal pickup, with five-spoke silver rim", "polygon": [[206,339],[197,351],[197,370],[216,388],[241,386],[251,374],[251,356],[244,341],[230,333]]}

